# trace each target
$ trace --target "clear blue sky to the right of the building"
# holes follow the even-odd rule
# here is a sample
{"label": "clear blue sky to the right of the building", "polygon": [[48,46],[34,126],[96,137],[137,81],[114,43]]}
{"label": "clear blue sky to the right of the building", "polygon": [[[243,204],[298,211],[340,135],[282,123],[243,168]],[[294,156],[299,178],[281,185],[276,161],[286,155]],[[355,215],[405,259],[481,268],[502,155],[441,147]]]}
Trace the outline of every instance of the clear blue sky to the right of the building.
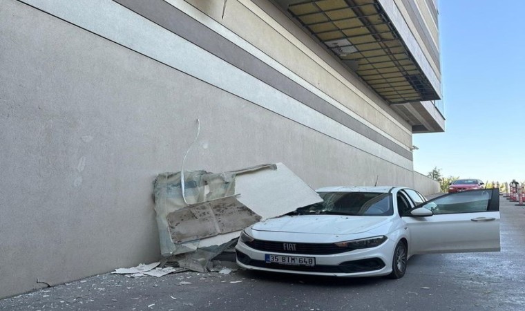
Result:
{"label": "clear blue sky to the right of the building", "polygon": [[525,1],[438,6],[446,131],[414,134],[414,170],[525,181]]}

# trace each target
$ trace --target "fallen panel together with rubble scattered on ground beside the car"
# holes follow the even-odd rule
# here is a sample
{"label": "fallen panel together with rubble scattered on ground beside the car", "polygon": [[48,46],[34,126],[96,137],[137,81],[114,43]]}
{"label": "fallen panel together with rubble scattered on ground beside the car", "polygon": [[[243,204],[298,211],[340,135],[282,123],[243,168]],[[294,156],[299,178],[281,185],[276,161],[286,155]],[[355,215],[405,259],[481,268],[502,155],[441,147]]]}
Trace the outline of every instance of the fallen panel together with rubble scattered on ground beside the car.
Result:
{"label": "fallen panel together with rubble scattered on ground beside the car", "polygon": [[234,247],[240,230],[262,218],[322,201],[282,163],[223,173],[162,173],[153,182],[153,191],[162,260],[113,274],[133,278],[185,271],[231,274],[238,270]]}

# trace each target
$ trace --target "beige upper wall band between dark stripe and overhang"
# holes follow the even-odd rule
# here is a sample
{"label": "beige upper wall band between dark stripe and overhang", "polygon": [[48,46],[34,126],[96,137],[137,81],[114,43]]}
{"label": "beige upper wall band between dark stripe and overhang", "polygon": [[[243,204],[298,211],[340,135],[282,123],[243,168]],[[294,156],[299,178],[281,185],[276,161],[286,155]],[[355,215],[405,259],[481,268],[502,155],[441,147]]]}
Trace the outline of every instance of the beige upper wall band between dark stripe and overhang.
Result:
{"label": "beige upper wall band between dark stripe and overhang", "polygon": [[[184,10],[184,6],[180,4],[182,1],[168,2]],[[347,69],[333,62],[333,56],[318,48],[318,44],[304,32],[300,38],[292,35],[290,28],[297,26],[292,21],[285,23],[283,19],[287,17],[277,8],[268,14],[250,0],[229,1],[222,17],[222,1],[187,2],[249,41],[339,104],[388,133],[399,144],[404,147],[412,146],[410,125],[401,120],[380,97],[364,93],[362,90],[367,86],[360,79],[352,75],[342,76],[340,72],[347,72]],[[286,28],[280,23],[285,24]],[[296,35],[297,31],[294,34]],[[312,46],[316,46],[315,51],[312,50]],[[330,64],[327,59],[330,59]]]}

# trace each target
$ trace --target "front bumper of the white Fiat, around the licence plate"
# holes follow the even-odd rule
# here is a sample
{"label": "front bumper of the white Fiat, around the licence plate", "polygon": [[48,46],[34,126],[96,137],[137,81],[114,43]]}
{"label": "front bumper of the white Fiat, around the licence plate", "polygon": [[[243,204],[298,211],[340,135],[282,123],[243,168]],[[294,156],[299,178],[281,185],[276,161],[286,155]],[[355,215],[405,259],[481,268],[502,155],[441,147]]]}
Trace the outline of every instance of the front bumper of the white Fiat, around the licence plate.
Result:
{"label": "front bumper of the white Fiat, around the licence plate", "polygon": [[[309,255],[261,251],[253,249],[239,241],[236,246],[236,252],[237,264],[247,270],[323,276],[361,277],[390,274],[390,272],[392,272],[392,254],[394,252],[394,247],[394,242],[387,240],[385,243],[377,247],[367,249],[355,249],[340,254]],[[305,266],[267,263],[265,261],[265,256],[267,254],[314,257],[315,265]]]}

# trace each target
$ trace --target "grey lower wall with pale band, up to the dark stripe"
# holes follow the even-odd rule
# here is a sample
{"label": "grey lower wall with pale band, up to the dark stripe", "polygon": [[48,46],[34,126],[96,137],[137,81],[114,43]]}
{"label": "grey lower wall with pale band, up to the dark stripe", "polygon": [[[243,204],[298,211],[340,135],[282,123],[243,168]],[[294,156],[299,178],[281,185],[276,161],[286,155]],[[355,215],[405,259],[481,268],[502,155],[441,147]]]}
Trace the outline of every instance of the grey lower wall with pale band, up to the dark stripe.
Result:
{"label": "grey lower wall with pale band, up to the dark stripe", "polygon": [[197,118],[186,169],[414,184],[410,159],[113,1],[28,3],[0,2],[0,297],[158,259],[151,182]]}

